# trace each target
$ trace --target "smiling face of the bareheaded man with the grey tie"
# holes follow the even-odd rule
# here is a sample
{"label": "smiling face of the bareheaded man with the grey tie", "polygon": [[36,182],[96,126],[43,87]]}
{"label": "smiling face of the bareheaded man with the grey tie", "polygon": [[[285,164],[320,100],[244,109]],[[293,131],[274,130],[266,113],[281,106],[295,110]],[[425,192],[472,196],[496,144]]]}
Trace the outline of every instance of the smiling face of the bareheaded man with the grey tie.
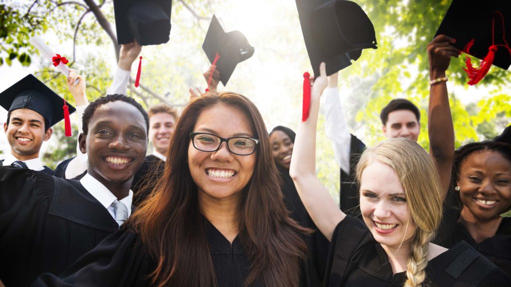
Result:
{"label": "smiling face of the bareheaded man with the grey tie", "polygon": [[99,106],[80,137],[80,149],[88,155],[88,173],[108,187],[126,183],[144,162],[147,127],[133,105],[115,101]]}

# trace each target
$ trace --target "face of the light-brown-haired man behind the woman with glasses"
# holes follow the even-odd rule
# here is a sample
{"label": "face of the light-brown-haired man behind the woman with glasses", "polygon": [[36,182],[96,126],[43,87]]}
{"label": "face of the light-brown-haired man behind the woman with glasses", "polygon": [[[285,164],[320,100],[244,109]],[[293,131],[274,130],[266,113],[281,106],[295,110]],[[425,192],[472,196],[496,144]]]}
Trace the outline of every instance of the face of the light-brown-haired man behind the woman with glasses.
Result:
{"label": "face of the light-brown-haired man behind the woman with glasses", "polygon": [[149,118],[149,139],[154,149],[162,155],[166,155],[169,149],[175,121],[175,118],[166,112],[155,113]]}

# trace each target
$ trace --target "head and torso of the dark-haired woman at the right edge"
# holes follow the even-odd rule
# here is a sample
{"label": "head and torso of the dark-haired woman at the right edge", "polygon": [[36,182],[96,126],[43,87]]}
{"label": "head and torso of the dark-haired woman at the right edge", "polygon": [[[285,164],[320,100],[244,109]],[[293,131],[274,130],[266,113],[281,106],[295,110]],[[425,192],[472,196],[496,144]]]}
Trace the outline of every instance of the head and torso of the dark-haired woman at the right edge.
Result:
{"label": "head and torso of the dark-haired woman at the right edge", "polygon": [[500,215],[511,209],[511,145],[482,141],[460,148],[452,186],[438,244],[465,241],[511,275],[511,218]]}

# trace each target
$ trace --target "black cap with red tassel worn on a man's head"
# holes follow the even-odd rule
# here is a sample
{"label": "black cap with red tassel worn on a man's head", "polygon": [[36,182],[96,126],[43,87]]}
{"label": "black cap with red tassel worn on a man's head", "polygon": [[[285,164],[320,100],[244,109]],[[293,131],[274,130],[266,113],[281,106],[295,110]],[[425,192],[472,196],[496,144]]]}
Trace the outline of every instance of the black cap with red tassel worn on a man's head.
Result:
{"label": "black cap with red tassel worn on a man's head", "polygon": [[31,109],[44,118],[48,129],[65,117],[66,136],[71,136],[69,114],[76,111],[75,107],[66,104],[52,89],[37,80],[34,75],[19,80],[0,93],[0,106],[11,112],[17,109]]}

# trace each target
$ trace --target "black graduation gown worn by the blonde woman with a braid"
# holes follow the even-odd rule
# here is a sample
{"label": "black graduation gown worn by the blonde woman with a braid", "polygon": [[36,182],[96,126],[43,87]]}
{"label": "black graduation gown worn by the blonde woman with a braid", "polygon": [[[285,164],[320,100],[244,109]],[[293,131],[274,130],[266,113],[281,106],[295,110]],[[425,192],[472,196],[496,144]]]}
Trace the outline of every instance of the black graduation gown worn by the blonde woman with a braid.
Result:
{"label": "black graduation gown worn by the blonde woman with a braid", "polygon": [[[428,261],[428,286],[510,286],[511,278],[470,245],[459,242]],[[406,272],[392,274],[382,246],[350,216],[334,230],[325,286],[402,287]]]}

